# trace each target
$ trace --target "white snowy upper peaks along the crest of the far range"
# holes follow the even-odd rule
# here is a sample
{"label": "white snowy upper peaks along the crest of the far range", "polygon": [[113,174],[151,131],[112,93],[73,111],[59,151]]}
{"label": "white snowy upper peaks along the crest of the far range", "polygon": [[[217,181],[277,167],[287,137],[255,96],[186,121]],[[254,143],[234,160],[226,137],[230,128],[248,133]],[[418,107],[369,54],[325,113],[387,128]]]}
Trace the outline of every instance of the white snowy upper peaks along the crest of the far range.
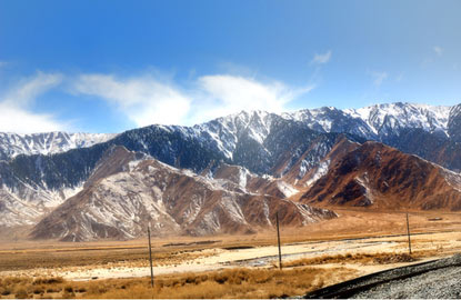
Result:
{"label": "white snowy upper peaks along the crest of the far range", "polygon": [[[213,143],[228,159],[233,158],[242,137],[263,144],[277,118],[298,121],[319,132],[348,132],[371,140],[399,134],[405,128],[448,136],[452,107],[414,103],[383,103],[360,109],[340,110],[334,107],[304,109],[274,114],[262,110],[240,111],[193,127],[158,126],[166,131],[181,131]],[[452,112],[453,114],[453,112]],[[48,132],[17,134],[0,132],[0,160],[18,154],[49,154],[108,141],[117,134]]]}

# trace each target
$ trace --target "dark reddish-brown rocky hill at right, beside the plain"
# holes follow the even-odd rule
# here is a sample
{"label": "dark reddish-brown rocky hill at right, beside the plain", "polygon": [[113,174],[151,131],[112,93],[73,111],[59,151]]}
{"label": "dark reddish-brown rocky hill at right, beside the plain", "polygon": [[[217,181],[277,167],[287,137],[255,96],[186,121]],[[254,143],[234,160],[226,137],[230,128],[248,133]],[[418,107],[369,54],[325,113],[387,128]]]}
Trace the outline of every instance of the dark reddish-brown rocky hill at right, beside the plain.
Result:
{"label": "dark reddish-brown rocky hill at right, beside the plain", "polygon": [[301,200],[325,207],[461,210],[461,176],[379,142],[337,159]]}

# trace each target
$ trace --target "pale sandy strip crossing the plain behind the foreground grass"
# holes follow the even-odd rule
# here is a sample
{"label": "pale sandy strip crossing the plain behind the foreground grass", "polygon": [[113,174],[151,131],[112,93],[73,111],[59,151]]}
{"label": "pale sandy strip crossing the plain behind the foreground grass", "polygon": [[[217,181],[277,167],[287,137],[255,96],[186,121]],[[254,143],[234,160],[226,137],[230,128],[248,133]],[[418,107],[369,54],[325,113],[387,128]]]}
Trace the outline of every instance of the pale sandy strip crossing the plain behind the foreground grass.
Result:
{"label": "pale sandy strip crossing the plain behind the foreground grass", "polygon": [[[439,233],[419,233],[412,236],[413,251],[432,251],[424,260],[435,259],[449,256],[461,250],[461,232],[439,232]],[[344,254],[344,253],[378,253],[408,252],[407,236],[380,237],[380,238],[361,238],[343,239],[330,241],[310,241],[294,242],[282,246],[283,261],[295,260],[300,258],[313,258],[323,254]],[[278,248],[275,246],[263,246],[249,249],[230,249],[211,248],[192,251],[197,254],[194,259],[184,260],[177,264],[158,266],[153,268],[154,274],[167,274],[174,272],[200,272],[218,270],[234,267],[255,267],[270,268],[278,261]],[[421,262],[419,260],[418,262]],[[86,267],[66,267],[53,269],[31,269],[2,271],[0,276],[56,276],[63,277],[68,280],[92,280],[109,278],[133,278],[150,276],[148,260],[143,261],[140,267],[133,267],[132,263],[123,261],[108,263],[104,266],[86,266]],[[371,273],[384,269],[395,268],[409,263],[392,264],[372,264],[362,266],[358,263],[334,263],[322,264],[321,268],[345,267],[358,270],[358,274]]]}

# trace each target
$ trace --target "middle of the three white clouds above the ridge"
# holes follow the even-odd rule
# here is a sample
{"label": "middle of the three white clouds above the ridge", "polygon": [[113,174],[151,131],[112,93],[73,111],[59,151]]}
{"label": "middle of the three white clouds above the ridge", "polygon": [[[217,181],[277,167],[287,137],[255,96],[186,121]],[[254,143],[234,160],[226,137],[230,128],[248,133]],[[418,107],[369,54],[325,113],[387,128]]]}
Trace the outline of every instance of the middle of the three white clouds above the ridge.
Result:
{"label": "middle of the three white clouds above the ridge", "polygon": [[172,84],[151,77],[123,80],[106,74],[83,74],[73,89],[82,94],[106,99],[140,127],[180,123],[191,102]]}

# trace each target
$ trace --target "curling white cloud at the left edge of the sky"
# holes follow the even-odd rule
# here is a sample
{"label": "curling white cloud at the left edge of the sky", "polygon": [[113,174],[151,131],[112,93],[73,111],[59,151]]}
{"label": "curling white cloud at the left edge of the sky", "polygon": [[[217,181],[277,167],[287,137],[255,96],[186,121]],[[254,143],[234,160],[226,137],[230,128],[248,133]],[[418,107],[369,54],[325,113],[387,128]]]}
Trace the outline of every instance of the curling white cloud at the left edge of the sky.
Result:
{"label": "curling white cloud at the left edge of the sky", "polygon": [[0,131],[32,133],[64,130],[67,126],[57,121],[52,114],[36,113],[30,108],[39,94],[56,87],[61,80],[60,74],[39,72],[0,96]]}

